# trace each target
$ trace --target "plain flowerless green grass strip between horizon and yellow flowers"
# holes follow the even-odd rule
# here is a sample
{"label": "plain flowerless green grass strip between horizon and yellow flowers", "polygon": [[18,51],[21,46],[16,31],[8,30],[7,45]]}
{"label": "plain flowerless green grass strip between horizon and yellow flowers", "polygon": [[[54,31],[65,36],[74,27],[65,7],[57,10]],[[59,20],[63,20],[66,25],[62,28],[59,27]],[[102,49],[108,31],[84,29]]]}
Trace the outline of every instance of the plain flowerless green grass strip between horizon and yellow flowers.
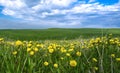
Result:
{"label": "plain flowerless green grass strip between horizon and yellow flowers", "polygon": [[0,37],[10,40],[69,40],[76,38],[92,38],[101,37],[112,33],[115,37],[120,36],[120,29],[97,29],[97,28],[81,28],[81,29],[2,29]]}

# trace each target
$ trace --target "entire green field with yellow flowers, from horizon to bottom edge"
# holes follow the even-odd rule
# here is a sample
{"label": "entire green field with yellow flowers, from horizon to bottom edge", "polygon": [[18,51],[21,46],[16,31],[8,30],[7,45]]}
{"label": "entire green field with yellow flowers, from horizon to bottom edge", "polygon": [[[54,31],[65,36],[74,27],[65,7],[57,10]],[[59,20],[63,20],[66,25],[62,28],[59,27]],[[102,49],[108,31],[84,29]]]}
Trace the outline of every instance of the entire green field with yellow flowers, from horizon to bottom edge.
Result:
{"label": "entire green field with yellow flowers, from horizon to bottom edge", "polygon": [[120,73],[119,30],[0,30],[0,73]]}

